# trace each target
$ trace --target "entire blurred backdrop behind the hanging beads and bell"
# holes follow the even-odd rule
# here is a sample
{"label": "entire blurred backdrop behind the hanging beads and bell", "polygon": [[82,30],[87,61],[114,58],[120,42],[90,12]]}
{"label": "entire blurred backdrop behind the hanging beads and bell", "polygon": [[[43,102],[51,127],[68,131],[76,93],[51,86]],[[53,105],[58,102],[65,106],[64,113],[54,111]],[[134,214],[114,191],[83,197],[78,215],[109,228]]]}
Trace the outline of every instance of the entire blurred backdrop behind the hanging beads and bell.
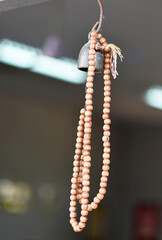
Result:
{"label": "entire blurred backdrop behind the hanging beads and bell", "polygon": [[[74,233],[70,179],[86,78],[76,60],[98,3],[0,2],[1,240],[162,239],[162,2],[103,4],[103,35],[124,55],[112,80],[111,171],[104,201]],[[91,199],[102,163],[102,74],[94,90]]]}

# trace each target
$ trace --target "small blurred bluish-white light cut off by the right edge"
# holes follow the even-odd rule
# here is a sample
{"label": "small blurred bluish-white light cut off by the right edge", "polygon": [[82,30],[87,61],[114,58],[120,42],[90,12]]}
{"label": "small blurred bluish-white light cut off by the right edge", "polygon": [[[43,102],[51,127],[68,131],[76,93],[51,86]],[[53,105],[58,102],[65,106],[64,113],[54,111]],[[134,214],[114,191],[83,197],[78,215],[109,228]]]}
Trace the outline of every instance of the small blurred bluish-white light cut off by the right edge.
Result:
{"label": "small blurred bluish-white light cut off by the right edge", "polygon": [[154,108],[162,110],[162,86],[152,86],[144,96],[145,102]]}

